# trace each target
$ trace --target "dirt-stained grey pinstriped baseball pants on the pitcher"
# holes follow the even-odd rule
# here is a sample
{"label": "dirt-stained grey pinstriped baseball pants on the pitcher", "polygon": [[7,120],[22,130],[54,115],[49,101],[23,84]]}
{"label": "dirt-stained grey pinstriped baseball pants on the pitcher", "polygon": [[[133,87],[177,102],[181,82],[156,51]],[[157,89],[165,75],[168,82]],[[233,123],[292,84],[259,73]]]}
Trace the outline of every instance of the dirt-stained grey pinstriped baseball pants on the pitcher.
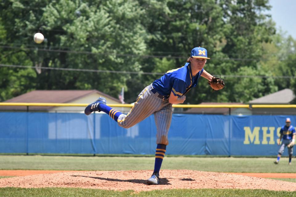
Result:
{"label": "dirt-stained grey pinstriped baseball pants on the pitcher", "polygon": [[127,115],[121,114],[117,123],[123,128],[130,128],[135,124],[154,114],[154,120],[157,128],[156,143],[168,145],[167,134],[171,126],[172,104],[168,100],[163,101],[157,97],[159,93],[153,93],[152,83],[144,88],[138,95],[134,107]]}

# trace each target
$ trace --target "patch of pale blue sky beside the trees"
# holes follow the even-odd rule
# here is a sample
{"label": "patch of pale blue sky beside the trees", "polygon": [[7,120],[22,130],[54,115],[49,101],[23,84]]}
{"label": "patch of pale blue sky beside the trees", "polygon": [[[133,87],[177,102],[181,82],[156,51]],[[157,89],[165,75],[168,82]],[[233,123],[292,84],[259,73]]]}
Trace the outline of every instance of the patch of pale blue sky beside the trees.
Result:
{"label": "patch of pale blue sky beside the trees", "polygon": [[272,8],[267,13],[271,14],[277,29],[296,39],[296,0],[269,0],[269,5]]}

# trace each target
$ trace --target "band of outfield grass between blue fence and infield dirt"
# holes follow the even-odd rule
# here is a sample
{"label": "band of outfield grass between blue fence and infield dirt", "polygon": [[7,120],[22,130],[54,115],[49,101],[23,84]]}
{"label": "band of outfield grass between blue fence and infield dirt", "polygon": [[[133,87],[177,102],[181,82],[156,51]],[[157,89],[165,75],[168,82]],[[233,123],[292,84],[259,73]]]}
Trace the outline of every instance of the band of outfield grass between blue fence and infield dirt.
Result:
{"label": "band of outfield grass between blue fence and infield dirt", "polygon": [[[294,159],[294,158],[293,158]],[[288,158],[278,165],[274,158],[166,157],[162,169],[187,169],[212,172],[296,173]],[[296,165],[296,159],[295,163]],[[24,170],[151,170],[154,157],[81,157],[41,155],[0,155],[0,169]]]}

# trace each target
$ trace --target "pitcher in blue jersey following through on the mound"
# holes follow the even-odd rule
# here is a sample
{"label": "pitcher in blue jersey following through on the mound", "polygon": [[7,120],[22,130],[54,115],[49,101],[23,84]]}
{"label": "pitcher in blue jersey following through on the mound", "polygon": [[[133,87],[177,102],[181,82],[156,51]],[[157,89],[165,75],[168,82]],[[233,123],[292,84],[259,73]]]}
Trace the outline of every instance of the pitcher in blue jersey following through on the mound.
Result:
{"label": "pitcher in blue jersey following through on the mound", "polygon": [[[205,48],[195,47],[191,50],[191,57],[181,68],[169,70],[161,78],[155,80],[138,95],[134,107],[127,115],[112,109],[106,105],[106,99],[100,97],[94,103],[89,104],[84,113],[91,114],[93,111],[103,111],[114,119],[123,128],[129,128],[144,120],[150,115],[154,115],[157,134],[155,163],[152,176],[147,180],[149,184],[159,183],[159,170],[162,159],[166,153],[168,145],[167,134],[172,119],[172,104],[183,103],[186,99],[185,94],[197,85],[200,76],[208,79],[208,83],[219,84],[217,78],[213,77],[204,70],[207,62],[208,53]],[[220,79],[220,78],[219,78]],[[220,79],[220,83],[223,82]],[[212,86],[211,86],[212,87]],[[224,87],[224,82],[222,83]],[[212,87],[215,89],[216,87]],[[218,88],[221,89],[221,88]]]}

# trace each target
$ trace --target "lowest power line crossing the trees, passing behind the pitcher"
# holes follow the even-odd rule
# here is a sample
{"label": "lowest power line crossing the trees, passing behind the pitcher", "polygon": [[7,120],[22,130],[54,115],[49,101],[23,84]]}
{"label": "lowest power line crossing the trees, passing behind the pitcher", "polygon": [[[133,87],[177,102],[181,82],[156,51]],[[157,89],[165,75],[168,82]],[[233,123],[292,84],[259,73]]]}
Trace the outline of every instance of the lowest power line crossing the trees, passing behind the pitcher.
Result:
{"label": "lowest power line crossing the trees, passing behind the pitcher", "polygon": [[[22,65],[8,65],[0,64],[1,67],[12,68],[32,68],[35,66],[22,66]],[[57,67],[37,67],[44,70],[66,70],[66,71],[79,71],[79,72],[97,72],[97,73],[117,73],[117,74],[147,74],[147,75],[163,75],[164,73],[157,72],[137,72],[137,71],[120,71],[120,70],[94,70],[94,69],[78,69],[78,68],[57,68]],[[214,74],[219,76],[219,74]],[[263,76],[263,75],[223,75],[223,78],[275,78],[275,79],[294,79],[296,76]]]}

